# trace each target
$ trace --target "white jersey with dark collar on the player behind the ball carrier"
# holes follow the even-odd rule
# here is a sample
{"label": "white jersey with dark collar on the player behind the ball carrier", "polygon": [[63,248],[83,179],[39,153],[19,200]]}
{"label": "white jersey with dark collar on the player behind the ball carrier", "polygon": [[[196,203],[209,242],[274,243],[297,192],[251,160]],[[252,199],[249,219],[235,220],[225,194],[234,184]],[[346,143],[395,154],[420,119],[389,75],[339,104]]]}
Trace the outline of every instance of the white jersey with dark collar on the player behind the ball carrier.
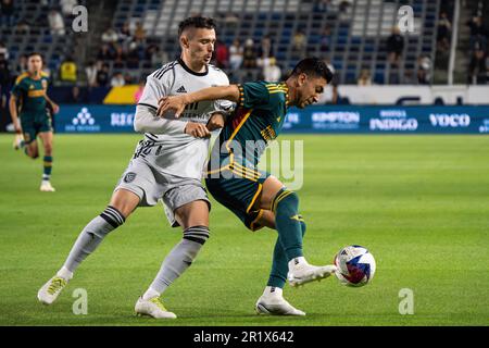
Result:
{"label": "white jersey with dark collar on the player behind the ball carrier", "polygon": [[142,158],[161,173],[201,179],[210,139],[185,134],[185,126],[187,122],[205,124],[213,112],[230,111],[233,102],[218,100],[192,103],[186,107],[179,119],[172,120],[172,115],[165,114],[165,119],[155,115],[158,101],[164,96],[227,85],[229,79],[222,70],[208,65],[204,73],[195,73],[180,59],[149,75],[135,119],[135,129],[145,132],[145,139],[139,141],[134,158]]}

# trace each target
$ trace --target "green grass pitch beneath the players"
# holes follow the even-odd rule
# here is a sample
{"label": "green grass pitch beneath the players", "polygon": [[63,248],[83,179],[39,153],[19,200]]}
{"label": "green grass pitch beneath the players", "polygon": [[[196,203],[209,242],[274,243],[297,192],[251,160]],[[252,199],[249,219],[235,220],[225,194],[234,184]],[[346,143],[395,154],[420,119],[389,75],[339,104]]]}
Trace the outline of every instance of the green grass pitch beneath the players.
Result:
{"label": "green grass pitch beneath the players", "polygon": [[[79,268],[51,307],[38,288],[63,263],[79,231],[108,203],[138,135],[55,137],[54,194],[38,191],[41,161],[0,136],[0,325],[488,325],[489,137],[288,136],[304,140],[300,211],[304,252],[330,263],[360,244],[377,261],[373,282],[347,288],[335,278],[286,298],[305,318],[258,316],[275,232],[248,232],[213,204],[211,234],[195,264],[164,295],[179,318],[134,315],[138,296],[180,238],[161,207],[139,209]],[[75,315],[73,291],[88,294]],[[399,291],[414,294],[401,315]]]}

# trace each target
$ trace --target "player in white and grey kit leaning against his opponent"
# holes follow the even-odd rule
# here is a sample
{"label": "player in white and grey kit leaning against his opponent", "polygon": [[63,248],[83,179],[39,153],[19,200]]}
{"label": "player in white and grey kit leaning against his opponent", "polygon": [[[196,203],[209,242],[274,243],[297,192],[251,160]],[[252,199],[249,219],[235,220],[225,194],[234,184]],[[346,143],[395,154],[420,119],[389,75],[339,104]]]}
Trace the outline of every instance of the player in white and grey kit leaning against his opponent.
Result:
{"label": "player in white and grey kit leaning against his opponent", "polygon": [[148,76],[136,108],[135,129],[145,133],[145,138],[136,147],[109,207],[85,226],[63,266],[39,289],[38,299],[45,304],[58,298],[79,263],[137,207],[154,206],[161,199],[170,223],[180,225],[184,235],[135,310],[153,318],[176,318],[160,297],[188,269],[210,236],[210,201],[201,178],[210,132],[224,125],[233,107],[228,101],[205,101],[189,105],[183,119],[156,116],[158,100],[164,96],[229,85],[226,74],[209,64],[216,40],[214,21],[190,17],[180,23],[178,32],[181,57]]}

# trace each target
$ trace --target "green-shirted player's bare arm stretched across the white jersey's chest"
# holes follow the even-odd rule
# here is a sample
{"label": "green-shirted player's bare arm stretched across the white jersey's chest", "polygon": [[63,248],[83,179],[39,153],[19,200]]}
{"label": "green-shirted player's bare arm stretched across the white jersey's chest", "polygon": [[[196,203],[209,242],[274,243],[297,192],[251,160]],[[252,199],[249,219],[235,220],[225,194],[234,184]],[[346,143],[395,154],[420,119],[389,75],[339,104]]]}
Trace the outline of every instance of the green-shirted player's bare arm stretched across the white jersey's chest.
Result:
{"label": "green-shirted player's bare arm stretched across the white jersey's chest", "polygon": [[209,87],[193,94],[183,96],[166,96],[159,100],[156,115],[163,116],[167,111],[175,110],[175,117],[179,117],[186,105],[203,101],[226,99],[237,102],[239,100],[239,88],[237,85]]}

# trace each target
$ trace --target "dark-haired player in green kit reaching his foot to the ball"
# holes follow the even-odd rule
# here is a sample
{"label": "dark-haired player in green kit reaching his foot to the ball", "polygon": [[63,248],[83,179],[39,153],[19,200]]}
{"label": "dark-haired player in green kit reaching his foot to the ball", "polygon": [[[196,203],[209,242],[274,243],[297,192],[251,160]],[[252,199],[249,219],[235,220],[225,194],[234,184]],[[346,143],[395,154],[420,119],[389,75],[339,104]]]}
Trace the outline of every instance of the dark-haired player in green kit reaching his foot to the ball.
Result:
{"label": "dark-haired player in green kit reaching his foot to the ball", "polygon": [[266,172],[256,169],[266,145],[275,139],[289,107],[305,108],[317,102],[333,78],[326,64],[308,58],[297,64],[283,83],[254,82],[160,100],[159,115],[202,100],[228,99],[238,103],[214,144],[205,179],[209,191],[231,210],[251,231],[275,228],[272,271],[267,286],[255,304],[258,313],[305,315],[284,299],[286,281],[292,286],[328,277],[335,265],[315,266],[302,252],[305,223],[299,213],[299,197]]}

